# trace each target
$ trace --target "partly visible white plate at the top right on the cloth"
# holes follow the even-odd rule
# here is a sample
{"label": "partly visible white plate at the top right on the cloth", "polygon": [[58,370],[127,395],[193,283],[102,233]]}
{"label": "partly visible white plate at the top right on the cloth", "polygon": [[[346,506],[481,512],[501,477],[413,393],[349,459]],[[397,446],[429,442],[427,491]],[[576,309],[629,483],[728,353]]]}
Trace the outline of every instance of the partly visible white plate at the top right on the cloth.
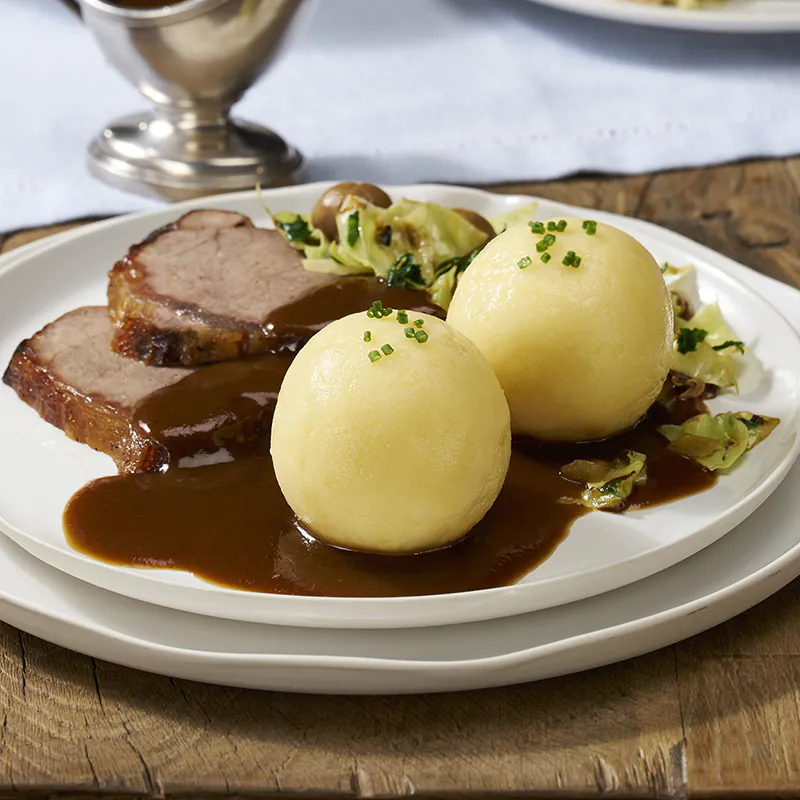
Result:
{"label": "partly visible white plate at the top right on the cloth", "polygon": [[590,17],[659,28],[719,33],[788,33],[800,30],[797,0],[729,0],[702,8],[650,5],[633,0],[531,0]]}

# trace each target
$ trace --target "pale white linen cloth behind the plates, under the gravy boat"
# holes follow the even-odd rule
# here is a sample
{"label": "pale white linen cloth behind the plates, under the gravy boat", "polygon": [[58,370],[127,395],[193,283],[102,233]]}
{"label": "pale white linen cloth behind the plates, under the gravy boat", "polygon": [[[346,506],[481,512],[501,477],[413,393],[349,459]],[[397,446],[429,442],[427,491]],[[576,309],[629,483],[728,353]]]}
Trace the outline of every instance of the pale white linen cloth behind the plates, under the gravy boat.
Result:
{"label": "pale white linen cloth behind the plates, under the gravy boat", "polygon": [[[0,230],[154,205],[85,167],[88,141],[144,98],[56,0],[0,12]],[[799,101],[791,34],[526,0],[320,0],[236,114],[299,147],[306,180],[488,183],[793,154]]]}

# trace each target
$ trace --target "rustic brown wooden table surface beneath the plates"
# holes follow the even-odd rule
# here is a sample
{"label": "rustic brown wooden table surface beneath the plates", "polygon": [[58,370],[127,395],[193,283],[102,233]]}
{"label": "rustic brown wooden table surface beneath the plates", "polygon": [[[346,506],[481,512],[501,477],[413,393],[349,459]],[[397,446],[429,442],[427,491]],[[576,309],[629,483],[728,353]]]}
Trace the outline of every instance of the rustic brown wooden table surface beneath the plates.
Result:
{"label": "rustic brown wooden table surface beneath the plates", "polygon": [[[652,220],[800,287],[800,159],[499,190]],[[641,658],[452,695],[206,686],[0,624],[0,717],[0,797],[800,796],[800,582]]]}

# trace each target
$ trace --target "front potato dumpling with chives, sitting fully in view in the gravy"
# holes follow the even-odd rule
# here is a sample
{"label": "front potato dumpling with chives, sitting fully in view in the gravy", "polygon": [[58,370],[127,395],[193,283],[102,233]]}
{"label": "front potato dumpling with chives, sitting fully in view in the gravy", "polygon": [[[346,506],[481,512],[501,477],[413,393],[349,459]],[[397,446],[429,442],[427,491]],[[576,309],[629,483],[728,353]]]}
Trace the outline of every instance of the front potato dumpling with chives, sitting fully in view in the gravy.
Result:
{"label": "front potato dumpling with chives, sitting fully in view in the gravy", "polygon": [[500,492],[508,404],[486,359],[446,323],[371,313],[328,325],[286,373],[272,424],[275,474],[309,532],[331,544],[443,547]]}

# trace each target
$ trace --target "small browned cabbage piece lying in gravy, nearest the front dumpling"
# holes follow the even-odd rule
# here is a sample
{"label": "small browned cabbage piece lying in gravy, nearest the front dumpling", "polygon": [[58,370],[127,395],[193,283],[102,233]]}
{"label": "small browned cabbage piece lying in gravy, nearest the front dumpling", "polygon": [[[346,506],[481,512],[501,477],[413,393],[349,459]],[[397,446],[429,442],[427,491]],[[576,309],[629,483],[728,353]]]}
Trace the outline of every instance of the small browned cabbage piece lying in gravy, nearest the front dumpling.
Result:
{"label": "small browned cabbage piece lying in gravy, nearest the front dumpling", "polygon": [[564,502],[578,503],[587,508],[620,511],[627,504],[636,486],[647,480],[647,456],[626,450],[613,462],[579,459],[563,466],[559,474],[569,481],[582,483],[586,488],[579,498]]}

